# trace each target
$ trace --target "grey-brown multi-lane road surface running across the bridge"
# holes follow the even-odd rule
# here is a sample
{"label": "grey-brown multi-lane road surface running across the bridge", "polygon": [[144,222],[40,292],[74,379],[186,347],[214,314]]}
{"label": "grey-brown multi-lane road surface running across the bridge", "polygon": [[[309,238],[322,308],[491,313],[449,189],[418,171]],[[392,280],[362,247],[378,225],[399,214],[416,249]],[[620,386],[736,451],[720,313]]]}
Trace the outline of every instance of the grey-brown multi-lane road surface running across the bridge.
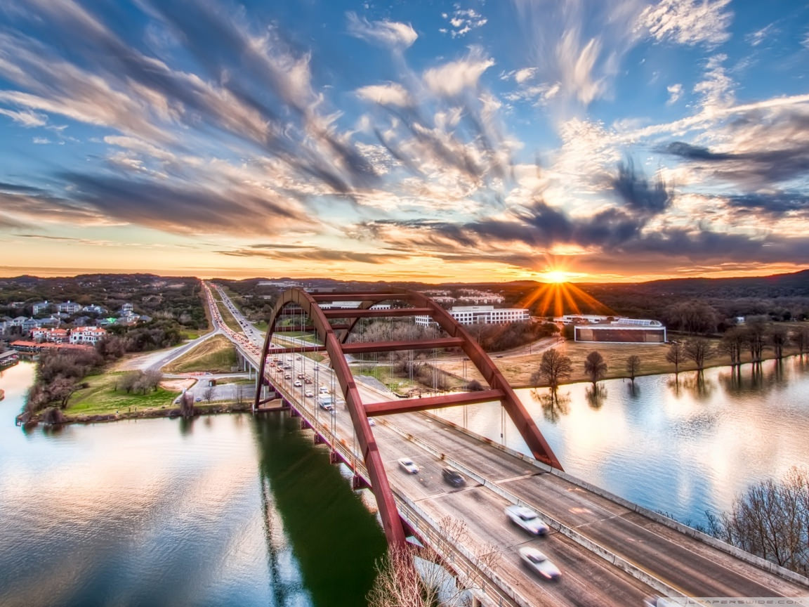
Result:
{"label": "grey-brown multi-lane road surface running across the bridge", "polygon": [[[221,291],[220,291],[221,292]],[[222,298],[227,298],[222,294]],[[226,299],[227,301],[227,299]],[[228,307],[237,320],[247,322],[235,306]],[[244,325],[243,325],[244,326]],[[260,349],[244,336],[233,336],[248,359],[258,362]],[[318,377],[320,384],[335,385],[328,367],[301,355],[286,354],[292,365],[291,380],[270,367],[268,379],[296,405],[311,411],[317,421],[332,422],[335,434],[349,447],[354,428],[345,405],[333,416],[319,410],[314,398],[303,396],[307,386],[295,388],[298,373]],[[317,369],[317,371],[316,371]],[[324,379],[325,378],[325,379]],[[364,402],[394,399],[358,383]],[[317,391],[317,386],[316,390]],[[677,533],[629,508],[595,495],[581,486],[547,473],[493,445],[464,434],[425,414],[396,414],[378,418],[374,434],[386,472],[399,496],[426,511],[433,520],[454,516],[464,520],[469,545],[481,550],[491,544],[500,551],[497,573],[527,605],[642,605],[644,597],[671,591],[685,596],[807,596],[809,588],[792,583],[743,562],[701,541]],[[410,439],[409,437],[415,437]],[[444,461],[440,458],[444,456]],[[402,471],[397,463],[409,456],[421,467],[417,475]],[[466,472],[467,486],[451,489],[443,483],[441,469],[447,461]],[[481,484],[483,482],[483,484]],[[502,513],[509,503],[527,503],[549,519],[580,533],[637,570],[650,575],[652,586],[612,566],[564,533],[532,538],[506,524]],[[535,545],[560,567],[557,584],[543,584],[521,567],[517,549]]]}

